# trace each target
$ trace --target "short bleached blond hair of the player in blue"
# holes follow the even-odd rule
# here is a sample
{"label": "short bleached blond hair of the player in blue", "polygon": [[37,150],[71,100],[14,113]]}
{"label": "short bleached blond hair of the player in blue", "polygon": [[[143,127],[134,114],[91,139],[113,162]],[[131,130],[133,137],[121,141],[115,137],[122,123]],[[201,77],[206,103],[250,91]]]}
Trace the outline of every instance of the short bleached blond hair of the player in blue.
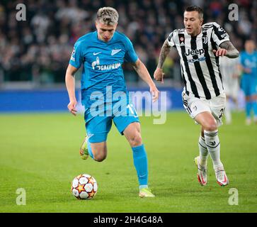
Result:
{"label": "short bleached blond hair of the player in blue", "polygon": [[113,26],[118,23],[119,13],[112,7],[103,7],[98,9],[96,14],[96,21],[108,26]]}

